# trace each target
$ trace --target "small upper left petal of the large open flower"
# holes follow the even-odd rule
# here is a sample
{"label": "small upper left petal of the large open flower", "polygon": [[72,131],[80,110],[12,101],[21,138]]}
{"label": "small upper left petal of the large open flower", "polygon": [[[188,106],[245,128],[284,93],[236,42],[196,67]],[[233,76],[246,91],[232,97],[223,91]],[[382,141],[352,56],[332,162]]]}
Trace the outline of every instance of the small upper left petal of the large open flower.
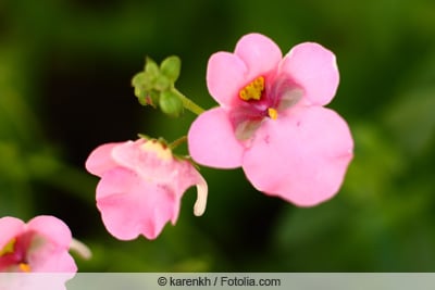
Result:
{"label": "small upper left petal of the large open flower", "polygon": [[248,81],[245,63],[233,53],[217,52],[211,55],[207,66],[207,87],[210,94],[223,106],[238,101],[238,91]]}

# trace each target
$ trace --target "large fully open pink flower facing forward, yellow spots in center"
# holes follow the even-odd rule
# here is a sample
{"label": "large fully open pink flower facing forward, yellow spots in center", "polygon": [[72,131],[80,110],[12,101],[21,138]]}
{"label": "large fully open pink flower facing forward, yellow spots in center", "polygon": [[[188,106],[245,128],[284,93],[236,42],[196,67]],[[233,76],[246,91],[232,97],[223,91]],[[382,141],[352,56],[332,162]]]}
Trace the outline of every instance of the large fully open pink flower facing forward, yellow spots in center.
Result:
{"label": "large fully open pink flower facing forward, yellow spots in center", "polygon": [[346,122],[323,108],[338,79],[335,55],[318,43],[298,45],[282,58],[268,37],[244,36],[234,53],[209,60],[207,85],[220,106],[191,125],[192,159],[241,166],[258,190],[300,206],[332,198],[353,148]]}

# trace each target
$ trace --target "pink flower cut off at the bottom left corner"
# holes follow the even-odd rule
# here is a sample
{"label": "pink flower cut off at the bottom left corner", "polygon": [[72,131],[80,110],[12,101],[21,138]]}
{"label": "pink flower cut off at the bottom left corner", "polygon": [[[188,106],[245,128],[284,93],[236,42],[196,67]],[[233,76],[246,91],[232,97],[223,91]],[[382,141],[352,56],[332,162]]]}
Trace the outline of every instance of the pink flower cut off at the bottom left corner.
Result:
{"label": "pink flower cut off at the bottom left corner", "polygon": [[70,228],[54,216],[0,218],[0,272],[76,273]]}

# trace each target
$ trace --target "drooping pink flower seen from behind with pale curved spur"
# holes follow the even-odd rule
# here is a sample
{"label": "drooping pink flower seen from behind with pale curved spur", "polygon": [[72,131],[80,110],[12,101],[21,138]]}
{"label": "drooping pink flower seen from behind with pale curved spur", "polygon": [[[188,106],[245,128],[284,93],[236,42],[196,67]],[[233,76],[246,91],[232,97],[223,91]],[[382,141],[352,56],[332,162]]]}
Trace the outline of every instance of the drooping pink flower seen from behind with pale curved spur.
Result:
{"label": "drooping pink flower seen from behind with pale curved spur", "polygon": [[198,190],[194,212],[201,215],[206,210],[206,180],[190,162],[174,157],[157,140],[100,146],[89,155],[86,168],[101,177],[97,206],[117,239],[130,240],[140,234],[157,238],[169,220],[175,224],[181,199],[194,185]]}

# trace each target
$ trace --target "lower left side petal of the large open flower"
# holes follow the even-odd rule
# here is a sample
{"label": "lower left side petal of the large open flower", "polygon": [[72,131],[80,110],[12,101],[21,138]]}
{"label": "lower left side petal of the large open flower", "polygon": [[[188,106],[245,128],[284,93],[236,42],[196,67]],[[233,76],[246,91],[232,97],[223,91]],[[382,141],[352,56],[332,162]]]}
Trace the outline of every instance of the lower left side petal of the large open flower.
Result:
{"label": "lower left side petal of the large open flower", "polygon": [[233,125],[223,109],[212,109],[199,115],[187,137],[189,153],[199,164],[216,168],[241,165],[245,149],[236,139]]}

